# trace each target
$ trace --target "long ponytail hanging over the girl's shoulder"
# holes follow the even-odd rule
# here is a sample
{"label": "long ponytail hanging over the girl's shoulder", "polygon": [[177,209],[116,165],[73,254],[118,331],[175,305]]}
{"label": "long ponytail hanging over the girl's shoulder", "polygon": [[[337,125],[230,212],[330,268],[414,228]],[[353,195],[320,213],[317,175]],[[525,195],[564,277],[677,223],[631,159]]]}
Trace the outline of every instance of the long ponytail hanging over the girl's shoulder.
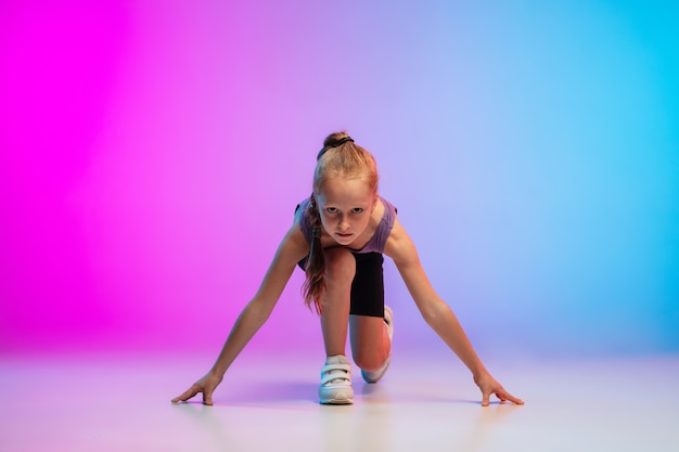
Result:
{"label": "long ponytail hanging over the girl's shoulder", "polygon": [[321,215],[318,211],[318,203],[315,195],[311,195],[309,208],[304,215],[308,216],[309,223],[313,231],[311,245],[309,247],[309,257],[307,258],[305,269],[307,277],[303,286],[304,300],[309,309],[311,309],[311,305],[313,305],[313,309],[320,314],[321,295],[325,290],[325,281],[323,280],[325,273],[325,255],[323,254],[323,246],[321,245]]}

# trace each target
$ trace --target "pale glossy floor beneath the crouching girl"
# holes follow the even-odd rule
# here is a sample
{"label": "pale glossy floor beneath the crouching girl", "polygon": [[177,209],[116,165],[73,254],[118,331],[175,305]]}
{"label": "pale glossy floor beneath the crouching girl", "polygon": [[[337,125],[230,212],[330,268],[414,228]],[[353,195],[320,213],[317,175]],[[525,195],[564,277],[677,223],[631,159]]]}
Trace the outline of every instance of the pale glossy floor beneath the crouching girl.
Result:
{"label": "pale glossy floor beneath the crouching girl", "polygon": [[169,400],[212,357],[0,357],[0,451],[679,451],[677,356],[486,360],[526,404],[485,409],[453,359],[407,353],[319,405],[317,358],[244,352],[203,406]]}

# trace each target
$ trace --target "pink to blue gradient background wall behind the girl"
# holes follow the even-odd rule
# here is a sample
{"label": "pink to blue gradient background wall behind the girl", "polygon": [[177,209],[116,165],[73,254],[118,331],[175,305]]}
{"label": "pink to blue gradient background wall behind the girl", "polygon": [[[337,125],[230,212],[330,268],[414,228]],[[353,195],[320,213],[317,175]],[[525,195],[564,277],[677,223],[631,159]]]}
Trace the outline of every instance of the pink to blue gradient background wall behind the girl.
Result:
{"label": "pink to blue gradient background wall behind the girl", "polygon": [[677,4],[0,1],[0,351],[216,351],[340,129],[482,351],[679,351]]}

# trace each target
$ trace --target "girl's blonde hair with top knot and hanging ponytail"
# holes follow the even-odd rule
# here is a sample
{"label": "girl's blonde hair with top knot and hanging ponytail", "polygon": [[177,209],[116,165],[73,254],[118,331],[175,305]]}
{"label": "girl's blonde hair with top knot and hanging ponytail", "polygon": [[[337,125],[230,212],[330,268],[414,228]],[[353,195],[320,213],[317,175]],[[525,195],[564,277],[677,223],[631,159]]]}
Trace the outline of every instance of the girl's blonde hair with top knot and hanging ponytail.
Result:
{"label": "girl's blonde hair with top knot and hanging ponytail", "polygon": [[331,133],[323,141],[313,171],[313,193],[309,208],[304,212],[312,228],[311,245],[305,268],[306,281],[303,293],[306,306],[321,313],[321,296],[325,292],[325,255],[321,245],[321,215],[317,195],[323,183],[337,177],[359,178],[368,183],[373,194],[377,193],[377,164],[370,152],[354,143],[347,132]]}

